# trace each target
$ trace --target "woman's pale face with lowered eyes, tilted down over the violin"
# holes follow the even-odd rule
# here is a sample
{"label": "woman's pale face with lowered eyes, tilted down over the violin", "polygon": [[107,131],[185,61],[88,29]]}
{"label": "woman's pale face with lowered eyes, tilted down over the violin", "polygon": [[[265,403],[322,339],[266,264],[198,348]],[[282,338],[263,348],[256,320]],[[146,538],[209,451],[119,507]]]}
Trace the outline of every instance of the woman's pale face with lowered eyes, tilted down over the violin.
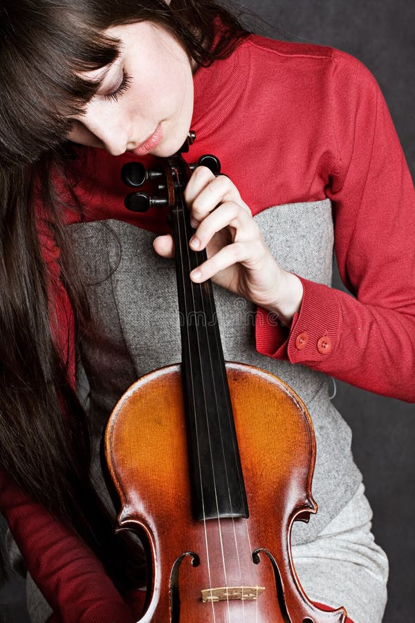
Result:
{"label": "woman's pale face with lowered eyes, tilted down over the violin", "polygon": [[120,39],[113,64],[86,74],[103,77],[85,114],[73,120],[68,138],[103,147],[114,156],[170,156],[183,145],[193,111],[192,67],[166,30],[140,22],[107,31]]}

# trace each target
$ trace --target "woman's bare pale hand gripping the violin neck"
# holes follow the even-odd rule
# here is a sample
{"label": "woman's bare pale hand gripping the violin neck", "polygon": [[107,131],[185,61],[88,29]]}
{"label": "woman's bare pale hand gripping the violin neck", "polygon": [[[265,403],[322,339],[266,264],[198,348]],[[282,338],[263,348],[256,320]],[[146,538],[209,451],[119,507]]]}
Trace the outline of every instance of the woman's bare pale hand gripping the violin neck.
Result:
{"label": "woman's bare pale hand gripping the violin neck", "polygon": [[[291,324],[302,302],[302,283],[277,264],[232,181],[198,167],[187,183],[185,200],[196,228],[190,247],[206,249],[208,255],[208,260],[190,273],[192,281],[212,278]],[[165,258],[172,257],[172,236],[158,236],[154,249]]]}

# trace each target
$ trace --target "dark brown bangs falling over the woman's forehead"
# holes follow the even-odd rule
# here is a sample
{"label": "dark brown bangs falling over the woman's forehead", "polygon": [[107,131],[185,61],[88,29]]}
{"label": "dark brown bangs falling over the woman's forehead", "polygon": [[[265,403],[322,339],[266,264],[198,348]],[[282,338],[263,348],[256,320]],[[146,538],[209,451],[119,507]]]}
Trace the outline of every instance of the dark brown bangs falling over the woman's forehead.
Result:
{"label": "dark brown bangs falling over the woman's forehead", "polygon": [[75,18],[55,5],[50,15],[40,14],[30,6],[24,19],[19,6],[15,20],[12,6],[8,19],[0,8],[0,164],[6,168],[33,163],[62,143],[71,116],[82,114],[100,87],[82,74],[119,55],[119,42],[79,13]]}

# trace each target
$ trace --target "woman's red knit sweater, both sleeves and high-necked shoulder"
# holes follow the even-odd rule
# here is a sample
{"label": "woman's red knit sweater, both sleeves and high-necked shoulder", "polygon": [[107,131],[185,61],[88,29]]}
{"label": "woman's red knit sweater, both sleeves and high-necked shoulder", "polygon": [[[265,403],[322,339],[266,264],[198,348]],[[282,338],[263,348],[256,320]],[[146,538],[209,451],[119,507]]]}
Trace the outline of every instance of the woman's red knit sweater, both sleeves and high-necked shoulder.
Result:
{"label": "woman's red knit sweater, both sleeves and high-necked shoulder", "polygon": [[[257,318],[257,349],[381,394],[415,401],[414,186],[376,80],[349,55],[250,37],[230,59],[195,75],[188,159],[212,152],[253,213],[333,201],[335,251],[351,291],[304,283],[291,329]],[[165,232],[155,211],[127,213],[120,166],[100,152],[75,190],[89,220],[119,218]],[[58,278],[53,242],[44,240]],[[57,340],[73,359],[73,319],[62,286]],[[65,622],[128,622],[122,600],[82,543],[1,479],[1,510],[32,575]]]}

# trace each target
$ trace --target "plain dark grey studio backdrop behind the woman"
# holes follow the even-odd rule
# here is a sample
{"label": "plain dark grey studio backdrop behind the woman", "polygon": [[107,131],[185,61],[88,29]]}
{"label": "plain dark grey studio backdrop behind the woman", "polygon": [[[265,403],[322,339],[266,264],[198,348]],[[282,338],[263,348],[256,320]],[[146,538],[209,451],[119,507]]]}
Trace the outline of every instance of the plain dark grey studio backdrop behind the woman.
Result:
{"label": "plain dark grey studio backdrop behind the woman", "polygon": [[[414,176],[414,1],[249,0],[244,6],[266,20],[257,20],[256,30],[334,46],[364,62],[385,94]],[[338,278],[335,286],[342,287]],[[384,622],[409,623],[415,621],[415,406],[336,386],[334,401],[353,430],[353,452],[374,509],[374,534],[389,556]],[[1,623],[26,623],[23,590],[17,577],[0,590]]]}

